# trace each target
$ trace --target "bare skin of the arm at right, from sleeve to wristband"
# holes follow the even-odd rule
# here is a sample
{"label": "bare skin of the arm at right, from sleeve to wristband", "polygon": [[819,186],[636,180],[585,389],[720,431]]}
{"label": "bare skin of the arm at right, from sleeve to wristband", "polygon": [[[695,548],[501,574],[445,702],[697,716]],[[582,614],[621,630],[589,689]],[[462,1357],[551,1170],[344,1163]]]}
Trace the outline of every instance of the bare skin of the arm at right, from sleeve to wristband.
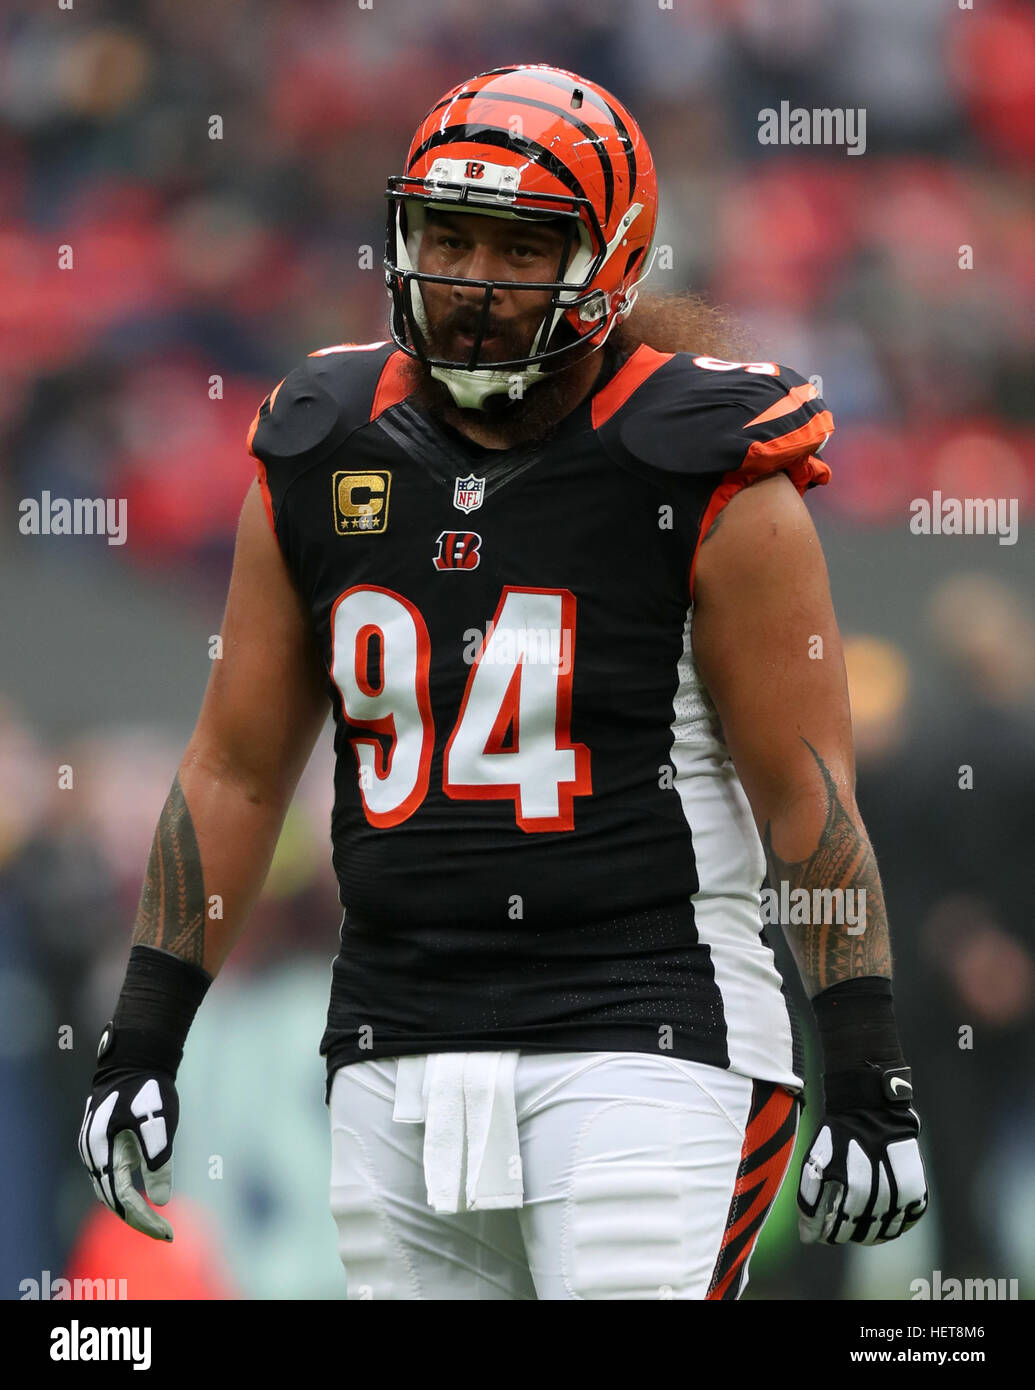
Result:
{"label": "bare skin of the arm at right, from sleeve to wristband", "polygon": [[841,980],[891,979],[884,892],[856,805],[827,566],[809,510],[782,473],[738,492],[702,543],[693,656],[752,805],[772,888],[852,888],[857,902],[866,894],[863,931],[824,922],[785,929],[809,997]]}

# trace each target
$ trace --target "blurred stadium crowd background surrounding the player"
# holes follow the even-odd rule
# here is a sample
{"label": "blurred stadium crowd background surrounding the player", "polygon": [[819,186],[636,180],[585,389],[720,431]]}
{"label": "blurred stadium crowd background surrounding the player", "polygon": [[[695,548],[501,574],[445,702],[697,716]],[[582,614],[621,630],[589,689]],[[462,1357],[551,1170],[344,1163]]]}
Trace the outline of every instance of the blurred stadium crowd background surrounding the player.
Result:
{"label": "blurred stadium crowd background surrounding the player", "polygon": [[[821,374],[838,421],[835,477],[810,507],[835,596],[836,546],[879,550],[906,530],[910,499],[935,488],[1018,498],[1022,549],[1035,496],[1035,14],[1010,0],[972,13],[943,0],[678,0],[671,10],[654,0],[99,0],[71,11],[8,0],[0,503],[14,541],[4,549],[32,545],[17,535],[21,498],[125,498],[128,543],[106,560],[126,595],[144,574],[175,595],[186,573],[221,595],[258,402],[304,353],[386,336],[385,179],[401,171],[413,128],[442,92],[517,61],[585,72],[635,113],[660,172],[657,240],[671,247],[671,270],[647,288],[728,304],[756,356]],[[866,107],[866,156],[759,145],[759,113],[781,100]],[[57,268],[63,246],[74,268]],[[972,270],[960,267],[964,247]],[[957,542],[968,571],[981,563],[966,548],[979,543]],[[1002,570],[1003,553],[995,559]],[[78,562],[61,563],[75,582]],[[935,1202],[924,1258],[907,1266],[1021,1277],[1031,1295],[1035,1258],[1017,1229],[1024,1212],[1035,1226],[1035,635],[1020,578],[947,564],[924,600],[922,653],[882,631],[879,614],[847,651],[859,802],[885,878]],[[199,634],[210,630],[199,619]],[[119,659],[129,666],[132,653]],[[917,666],[934,708],[917,699]],[[188,728],[200,696],[199,682]],[[188,1049],[181,1095],[188,1076],[196,1086],[176,1190],[199,1204],[196,1229],[189,1207],[182,1218],[194,1234],[176,1247],[175,1276],[168,1261],[147,1272],[143,1237],[117,1257],[104,1244],[121,1233],[92,1205],[74,1151],[93,1044],[72,1062],[54,1037],[71,1024],[92,1040],[110,1011],[182,752],[179,727],[147,727],[146,709],[139,717],[135,730],[67,719],[58,737],[24,698],[0,706],[0,1297],[18,1297],[18,1282],[40,1269],[103,1272],[113,1258],[119,1275],[139,1261],[131,1293],[338,1297],[315,1056],[339,919],[324,744],[254,929],[226,967],[226,1012],[214,992]],[[50,790],[58,763],[76,766],[83,791]],[[970,794],[956,790],[964,763],[975,766]],[[782,965],[793,973],[789,958]],[[283,1020],[275,1033],[272,1016]],[[289,1033],[300,1038],[293,1070],[281,1061]],[[306,1098],[293,1102],[293,1143],[267,1133],[258,1154],[242,1145],[233,1184],[206,1172],[192,1186],[190,1172],[213,1152],[226,1158],[235,1125],[249,1123],[240,1095],[193,1098],[213,1049],[220,1068],[238,1058],[238,1093],[261,1059],[267,1130],[283,1129],[292,1095]],[[803,1130],[817,1112],[810,1105]],[[218,1130],[221,1118],[222,1147],[201,1131],[203,1119]],[[286,1194],[300,1186],[288,1166],[299,1162],[311,1182]],[[859,1282],[842,1251],[800,1251],[793,1186],[767,1227],[753,1291],[909,1297],[892,1247],[871,1266],[888,1270],[877,1286]],[[306,1258],[310,1237],[325,1247],[322,1265]]]}

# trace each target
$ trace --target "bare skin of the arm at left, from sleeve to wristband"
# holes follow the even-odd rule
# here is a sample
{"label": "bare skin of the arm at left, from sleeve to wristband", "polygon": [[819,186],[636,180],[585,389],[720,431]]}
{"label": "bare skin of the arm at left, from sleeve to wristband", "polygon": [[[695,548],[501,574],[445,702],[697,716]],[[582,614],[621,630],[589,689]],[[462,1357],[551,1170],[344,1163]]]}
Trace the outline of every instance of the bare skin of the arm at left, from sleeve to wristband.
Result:
{"label": "bare skin of the arm at left, from sleeve to wristband", "polygon": [[[154,831],[133,945],[214,976],[256,903],[329,710],[308,616],[258,484],[238,527],[222,657]],[[211,916],[218,897],[222,916]]]}

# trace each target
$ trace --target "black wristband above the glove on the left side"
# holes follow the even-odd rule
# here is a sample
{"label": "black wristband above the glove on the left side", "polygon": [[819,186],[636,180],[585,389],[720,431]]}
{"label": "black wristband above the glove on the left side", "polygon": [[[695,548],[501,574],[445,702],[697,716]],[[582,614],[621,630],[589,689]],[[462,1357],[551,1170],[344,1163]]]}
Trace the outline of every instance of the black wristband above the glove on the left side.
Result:
{"label": "black wristband above the glove on the left side", "polygon": [[183,1044],[213,977],[157,947],[129,952],[115,1013],[97,1045],[93,1084],[117,1072],[165,1072],[175,1081]]}

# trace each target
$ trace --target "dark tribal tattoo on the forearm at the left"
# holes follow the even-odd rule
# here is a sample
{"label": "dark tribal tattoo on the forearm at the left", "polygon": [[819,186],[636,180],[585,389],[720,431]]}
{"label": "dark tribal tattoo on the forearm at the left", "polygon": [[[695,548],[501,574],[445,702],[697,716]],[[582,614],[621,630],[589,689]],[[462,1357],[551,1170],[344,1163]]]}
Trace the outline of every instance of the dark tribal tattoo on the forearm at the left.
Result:
{"label": "dark tribal tattoo on the forearm at the left", "polygon": [[176,774],[154,831],[132,944],[203,966],[204,909],[201,853]]}

